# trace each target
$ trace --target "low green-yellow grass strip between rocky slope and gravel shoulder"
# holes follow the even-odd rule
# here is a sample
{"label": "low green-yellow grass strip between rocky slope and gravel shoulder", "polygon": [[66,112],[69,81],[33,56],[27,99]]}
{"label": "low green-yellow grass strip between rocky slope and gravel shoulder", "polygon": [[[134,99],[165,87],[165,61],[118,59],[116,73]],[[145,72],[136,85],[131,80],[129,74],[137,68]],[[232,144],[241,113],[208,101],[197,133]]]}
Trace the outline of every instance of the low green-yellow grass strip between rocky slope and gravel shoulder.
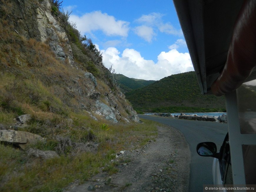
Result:
{"label": "low green-yellow grass strip between rocky slope and gravel shoulder", "polygon": [[[12,146],[0,144],[0,191],[57,192],[62,191],[62,188],[77,179],[80,183],[85,182],[92,175],[98,173],[100,167],[110,175],[117,173],[118,163],[110,162],[115,158],[115,153],[121,150],[134,150],[145,145],[150,139],[152,140],[151,136],[157,136],[158,123],[143,121],[144,123],[139,124],[109,125],[107,131],[100,127],[94,128],[95,142],[99,142],[97,151],[69,155],[70,149],[67,148],[67,153],[46,160],[30,156],[26,151],[15,149]],[[61,131],[76,130],[65,128]],[[78,132],[79,130],[77,130]],[[36,146],[27,147],[53,150],[54,143],[37,143]],[[127,159],[119,159],[119,163],[123,161],[127,161]]]}

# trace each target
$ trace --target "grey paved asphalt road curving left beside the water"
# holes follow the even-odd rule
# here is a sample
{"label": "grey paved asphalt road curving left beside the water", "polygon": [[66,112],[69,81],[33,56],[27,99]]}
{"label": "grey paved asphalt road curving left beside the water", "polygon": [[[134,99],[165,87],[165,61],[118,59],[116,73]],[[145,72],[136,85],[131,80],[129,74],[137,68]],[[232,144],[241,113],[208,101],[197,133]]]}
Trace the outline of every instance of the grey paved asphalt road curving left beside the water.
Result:
{"label": "grey paved asphalt road curving left beside the water", "polygon": [[203,184],[212,184],[212,157],[201,157],[196,152],[200,142],[212,141],[220,149],[227,134],[226,123],[192,121],[158,116],[138,115],[139,118],[157,121],[172,126],[183,133],[191,151],[189,191],[203,191]]}

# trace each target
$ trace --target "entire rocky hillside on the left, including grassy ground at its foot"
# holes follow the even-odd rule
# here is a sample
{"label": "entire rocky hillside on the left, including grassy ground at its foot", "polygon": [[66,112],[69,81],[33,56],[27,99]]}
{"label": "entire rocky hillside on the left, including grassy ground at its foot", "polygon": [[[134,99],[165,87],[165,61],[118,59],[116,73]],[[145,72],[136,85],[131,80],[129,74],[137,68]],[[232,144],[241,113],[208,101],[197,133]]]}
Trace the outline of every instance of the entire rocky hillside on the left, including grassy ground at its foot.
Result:
{"label": "entire rocky hillside on the left, including grassy ground at its foot", "polygon": [[150,136],[60,5],[0,0],[0,191],[63,191]]}

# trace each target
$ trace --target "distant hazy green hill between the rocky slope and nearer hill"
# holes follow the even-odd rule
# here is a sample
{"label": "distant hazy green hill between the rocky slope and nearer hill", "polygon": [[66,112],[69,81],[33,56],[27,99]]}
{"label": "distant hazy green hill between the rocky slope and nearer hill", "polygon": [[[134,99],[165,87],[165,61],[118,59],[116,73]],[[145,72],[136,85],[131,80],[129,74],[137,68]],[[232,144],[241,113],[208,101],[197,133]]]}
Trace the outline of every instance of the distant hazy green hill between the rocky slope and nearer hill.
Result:
{"label": "distant hazy green hill between the rocky slope and nearer hill", "polygon": [[147,80],[143,80],[143,79],[129,78],[129,77],[124,76],[122,74],[115,74],[115,75],[117,75],[117,77],[119,79],[118,83],[120,84],[120,90],[123,93],[126,93],[126,92],[132,91],[134,89],[144,87],[146,85],[149,85],[149,84],[152,84],[152,83],[155,82],[153,80],[147,81]]}

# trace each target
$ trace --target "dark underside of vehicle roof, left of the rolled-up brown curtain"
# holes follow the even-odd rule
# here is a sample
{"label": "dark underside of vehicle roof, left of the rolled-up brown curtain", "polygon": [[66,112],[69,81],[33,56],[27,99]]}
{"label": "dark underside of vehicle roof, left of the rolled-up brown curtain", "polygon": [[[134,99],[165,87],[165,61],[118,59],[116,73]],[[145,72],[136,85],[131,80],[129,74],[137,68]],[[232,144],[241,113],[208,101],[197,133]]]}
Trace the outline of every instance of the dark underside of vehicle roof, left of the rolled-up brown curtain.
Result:
{"label": "dark underside of vehicle roof, left of the rolled-up brown curtain", "polygon": [[[202,94],[225,66],[243,0],[174,0]],[[250,76],[254,76],[255,71]],[[255,79],[254,77],[252,79]]]}

